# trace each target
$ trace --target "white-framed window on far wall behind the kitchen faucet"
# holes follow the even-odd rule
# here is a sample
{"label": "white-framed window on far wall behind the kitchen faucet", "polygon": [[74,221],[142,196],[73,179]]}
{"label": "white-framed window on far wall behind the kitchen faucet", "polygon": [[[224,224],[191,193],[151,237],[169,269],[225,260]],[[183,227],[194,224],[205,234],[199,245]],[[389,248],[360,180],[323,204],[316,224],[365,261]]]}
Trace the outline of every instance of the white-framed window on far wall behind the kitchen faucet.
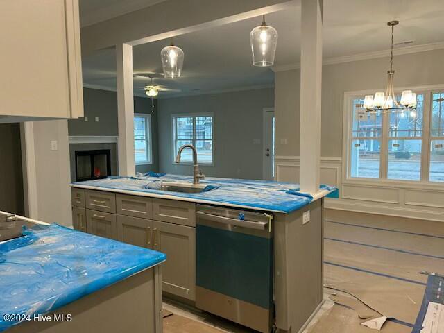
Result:
{"label": "white-framed window on far wall behind the kitchen faucet", "polygon": [[[213,116],[211,114],[173,116],[174,158],[184,144],[192,144],[197,150],[199,163],[213,163]],[[182,151],[181,162],[193,162],[191,149]]]}

